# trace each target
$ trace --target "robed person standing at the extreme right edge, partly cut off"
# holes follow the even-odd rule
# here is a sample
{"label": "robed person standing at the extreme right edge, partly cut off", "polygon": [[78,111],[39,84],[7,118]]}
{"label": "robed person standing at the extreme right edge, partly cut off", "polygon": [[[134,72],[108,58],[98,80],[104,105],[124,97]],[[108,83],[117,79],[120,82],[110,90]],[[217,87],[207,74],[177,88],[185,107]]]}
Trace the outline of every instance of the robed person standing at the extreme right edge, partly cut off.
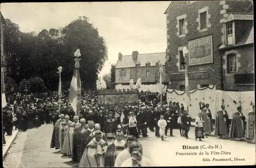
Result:
{"label": "robed person standing at the extreme right edge, partly cut off", "polygon": [[246,122],[245,138],[248,143],[255,143],[255,105],[252,105],[252,110],[248,113]]}

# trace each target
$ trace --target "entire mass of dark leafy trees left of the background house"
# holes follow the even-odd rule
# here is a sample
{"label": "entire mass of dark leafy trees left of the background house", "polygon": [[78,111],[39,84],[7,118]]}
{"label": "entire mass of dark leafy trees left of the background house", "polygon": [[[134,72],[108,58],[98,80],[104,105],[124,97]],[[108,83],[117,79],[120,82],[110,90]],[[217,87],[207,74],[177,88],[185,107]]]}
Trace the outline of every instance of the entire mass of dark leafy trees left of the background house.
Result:
{"label": "entire mass of dark leafy trees left of the background house", "polygon": [[[28,79],[34,77],[42,79],[48,89],[57,90],[59,66],[63,67],[63,89],[67,89],[74,73],[76,49],[81,53],[81,81],[86,83],[86,88],[96,87],[97,73],[108,59],[103,37],[86,16],[70,22],[61,30],[44,29],[38,34],[21,32],[16,23],[6,19],[4,45],[7,75],[15,83],[22,84],[19,85],[21,91]],[[37,91],[39,88],[44,87],[36,86]]]}

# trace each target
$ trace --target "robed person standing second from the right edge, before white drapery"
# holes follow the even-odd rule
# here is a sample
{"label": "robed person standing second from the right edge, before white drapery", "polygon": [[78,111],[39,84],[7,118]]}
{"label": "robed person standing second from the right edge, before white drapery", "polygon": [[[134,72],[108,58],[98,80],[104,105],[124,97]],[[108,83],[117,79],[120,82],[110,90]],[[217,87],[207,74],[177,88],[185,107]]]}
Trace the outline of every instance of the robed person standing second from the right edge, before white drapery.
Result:
{"label": "robed person standing second from the right edge, before white drapery", "polygon": [[239,106],[237,111],[232,115],[229,138],[232,140],[245,140],[245,116],[242,113],[242,107]]}

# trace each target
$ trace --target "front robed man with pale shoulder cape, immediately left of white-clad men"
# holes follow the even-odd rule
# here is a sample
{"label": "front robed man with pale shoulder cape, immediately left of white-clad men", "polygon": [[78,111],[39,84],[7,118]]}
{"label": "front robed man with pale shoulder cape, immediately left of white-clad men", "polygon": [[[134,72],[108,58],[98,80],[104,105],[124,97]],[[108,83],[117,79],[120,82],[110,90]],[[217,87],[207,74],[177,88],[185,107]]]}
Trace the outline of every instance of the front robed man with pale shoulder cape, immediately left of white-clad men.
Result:
{"label": "front robed man with pale shoulder cape, immediately left of white-clad men", "polygon": [[126,140],[123,138],[122,130],[116,131],[114,138],[105,152],[105,167],[114,167],[117,155],[127,148]]}

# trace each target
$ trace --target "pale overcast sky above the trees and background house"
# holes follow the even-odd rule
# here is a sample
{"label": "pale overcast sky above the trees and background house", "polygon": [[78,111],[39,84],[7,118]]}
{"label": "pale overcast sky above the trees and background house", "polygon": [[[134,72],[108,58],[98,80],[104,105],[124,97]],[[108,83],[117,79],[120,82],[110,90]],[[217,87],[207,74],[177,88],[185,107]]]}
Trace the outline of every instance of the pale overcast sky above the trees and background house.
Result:
{"label": "pale overcast sky above the trees and background house", "polygon": [[98,3],[1,3],[1,12],[23,32],[60,28],[79,16],[87,16],[108,46],[108,61],[100,76],[109,73],[118,53],[131,55],[165,52],[169,2]]}

